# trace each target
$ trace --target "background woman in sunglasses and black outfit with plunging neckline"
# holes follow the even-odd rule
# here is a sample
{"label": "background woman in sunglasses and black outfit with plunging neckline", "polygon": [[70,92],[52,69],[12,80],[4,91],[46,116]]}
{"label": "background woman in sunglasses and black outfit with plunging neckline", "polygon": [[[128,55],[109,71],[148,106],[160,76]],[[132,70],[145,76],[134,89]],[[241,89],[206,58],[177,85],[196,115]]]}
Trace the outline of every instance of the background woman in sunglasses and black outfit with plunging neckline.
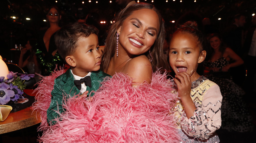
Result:
{"label": "background woman in sunglasses and black outfit with plunging neckline", "polygon": [[63,60],[57,53],[54,35],[60,29],[59,21],[61,13],[56,6],[52,6],[47,11],[47,23],[49,28],[41,30],[38,35],[38,45],[36,56],[41,65],[42,75],[50,75],[50,73],[58,66],[63,66]]}

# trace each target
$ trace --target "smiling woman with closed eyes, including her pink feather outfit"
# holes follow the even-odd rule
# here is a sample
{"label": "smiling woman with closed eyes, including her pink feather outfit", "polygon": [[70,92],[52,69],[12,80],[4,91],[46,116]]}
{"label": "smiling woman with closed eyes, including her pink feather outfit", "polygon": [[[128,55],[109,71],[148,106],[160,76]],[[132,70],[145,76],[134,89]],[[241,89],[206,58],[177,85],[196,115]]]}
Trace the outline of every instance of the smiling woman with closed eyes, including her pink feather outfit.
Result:
{"label": "smiling woman with closed eyes, including her pink feather outfit", "polygon": [[[42,108],[50,104],[52,96],[45,89],[61,71],[44,78],[37,88],[36,108],[44,117],[40,129],[45,130],[41,142],[179,142],[171,111],[177,96],[170,92],[174,89],[167,76],[157,70],[167,65],[163,60],[164,24],[158,10],[150,4],[134,4],[115,21],[101,64],[113,76],[101,82],[90,101],[85,96],[63,100],[61,120],[49,127],[44,124]],[[82,57],[77,59],[79,64],[92,64]]]}

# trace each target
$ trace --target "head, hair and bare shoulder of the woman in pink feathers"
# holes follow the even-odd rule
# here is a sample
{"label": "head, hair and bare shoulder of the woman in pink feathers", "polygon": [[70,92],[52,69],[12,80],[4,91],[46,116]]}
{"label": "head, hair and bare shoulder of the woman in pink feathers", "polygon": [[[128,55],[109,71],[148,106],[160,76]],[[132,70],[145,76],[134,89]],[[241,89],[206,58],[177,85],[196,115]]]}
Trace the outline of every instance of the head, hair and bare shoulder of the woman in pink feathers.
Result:
{"label": "head, hair and bare shoulder of the woman in pink feathers", "polygon": [[152,69],[163,67],[164,23],[159,11],[145,3],[123,9],[109,30],[102,70],[110,75],[116,72],[134,78],[134,85],[150,83]]}

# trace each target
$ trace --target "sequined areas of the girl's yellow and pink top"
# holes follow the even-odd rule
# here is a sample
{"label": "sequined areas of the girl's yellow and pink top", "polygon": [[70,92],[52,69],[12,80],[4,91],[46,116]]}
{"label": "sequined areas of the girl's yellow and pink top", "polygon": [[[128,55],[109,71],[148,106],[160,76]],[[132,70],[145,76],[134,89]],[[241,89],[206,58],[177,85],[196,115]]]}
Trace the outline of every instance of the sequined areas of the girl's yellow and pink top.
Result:
{"label": "sequined areas of the girl's yellow and pink top", "polygon": [[192,139],[212,140],[212,134],[220,128],[221,124],[216,124],[215,122],[218,121],[218,123],[221,123],[222,96],[220,91],[217,96],[220,99],[213,100],[214,103],[206,102],[204,105],[202,104],[205,92],[213,86],[217,87],[219,90],[219,87],[214,82],[204,76],[200,76],[196,81],[192,82],[190,97],[195,104],[196,110],[190,119],[187,119],[180,100],[177,101],[176,107],[174,108],[178,128],[182,129],[183,132],[187,134],[186,136],[191,136]]}

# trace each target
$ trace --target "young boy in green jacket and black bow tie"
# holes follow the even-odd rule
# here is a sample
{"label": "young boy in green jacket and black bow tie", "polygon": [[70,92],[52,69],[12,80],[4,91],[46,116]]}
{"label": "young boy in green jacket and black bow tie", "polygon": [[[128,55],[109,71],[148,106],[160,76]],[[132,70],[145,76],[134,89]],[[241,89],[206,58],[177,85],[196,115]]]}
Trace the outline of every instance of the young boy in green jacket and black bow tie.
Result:
{"label": "young boy in green jacket and black bow tie", "polygon": [[53,119],[60,116],[56,111],[64,112],[63,97],[87,96],[100,87],[104,77],[110,76],[99,71],[101,54],[97,34],[95,27],[78,22],[66,25],[56,33],[57,50],[70,69],[54,80],[52,101],[47,110],[49,124],[55,124]]}

